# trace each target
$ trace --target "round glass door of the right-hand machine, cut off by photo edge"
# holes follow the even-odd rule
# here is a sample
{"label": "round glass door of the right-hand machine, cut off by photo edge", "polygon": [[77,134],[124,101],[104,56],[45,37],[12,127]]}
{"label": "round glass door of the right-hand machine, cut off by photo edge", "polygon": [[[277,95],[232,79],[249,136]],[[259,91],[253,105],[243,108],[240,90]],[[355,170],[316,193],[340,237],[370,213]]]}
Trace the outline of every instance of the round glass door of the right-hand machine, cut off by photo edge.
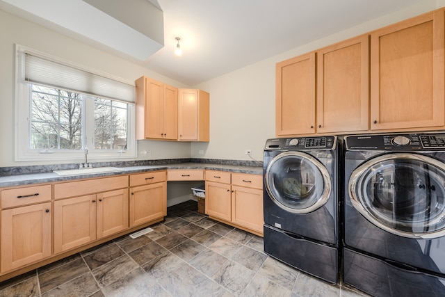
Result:
{"label": "round glass door of the right-hand machine, cut off by photo edge", "polygon": [[351,202],[378,227],[410,238],[445,234],[445,166],[429,156],[378,156],[353,171]]}

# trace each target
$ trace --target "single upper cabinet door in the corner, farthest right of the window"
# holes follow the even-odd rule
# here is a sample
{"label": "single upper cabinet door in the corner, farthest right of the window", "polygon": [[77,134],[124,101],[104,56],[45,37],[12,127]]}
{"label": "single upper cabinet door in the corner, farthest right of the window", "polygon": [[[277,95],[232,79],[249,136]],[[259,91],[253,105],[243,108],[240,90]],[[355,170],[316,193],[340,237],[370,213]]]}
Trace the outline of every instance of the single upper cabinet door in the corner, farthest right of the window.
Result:
{"label": "single upper cabinet door in the corner, farthest right of the window", "polygon": [[179,140],[197,141],[198,90],[179,90]]}

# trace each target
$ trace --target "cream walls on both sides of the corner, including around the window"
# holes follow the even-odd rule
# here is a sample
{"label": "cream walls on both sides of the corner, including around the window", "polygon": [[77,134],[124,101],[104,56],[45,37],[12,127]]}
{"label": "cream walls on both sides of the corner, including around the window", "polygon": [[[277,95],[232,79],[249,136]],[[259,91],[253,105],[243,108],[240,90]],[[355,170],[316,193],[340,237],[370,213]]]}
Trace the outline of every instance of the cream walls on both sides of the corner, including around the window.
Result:
{"label": "cream walls on both sides of the corner, including around the window", "polygon": [[[193,157],[250,160],[244,153],[245,149],[250,149],[252,157],[261,161],[266,139],[275,137],[275,63],[443,6],[445,6],[445,0],[438,0],[435,5],[426,5],[424,1],[419,1],[418,5],[398,13],[355,26],[193,86],[210,93],[210,143],[139,141],[139,152],[151,151],[152,153],[140,154],[138,159]],[[178,81],[0,10],[0,127],[2,127],[0,166],[42,163],[13,161],[13,45],[15,43],[123,79],[134,81],[142,75],[147,75],[173,86],[187,87]],[[199,154],[200,150],[203,150],[204,154]],[[67,162],[71,163],[70,160]]]}

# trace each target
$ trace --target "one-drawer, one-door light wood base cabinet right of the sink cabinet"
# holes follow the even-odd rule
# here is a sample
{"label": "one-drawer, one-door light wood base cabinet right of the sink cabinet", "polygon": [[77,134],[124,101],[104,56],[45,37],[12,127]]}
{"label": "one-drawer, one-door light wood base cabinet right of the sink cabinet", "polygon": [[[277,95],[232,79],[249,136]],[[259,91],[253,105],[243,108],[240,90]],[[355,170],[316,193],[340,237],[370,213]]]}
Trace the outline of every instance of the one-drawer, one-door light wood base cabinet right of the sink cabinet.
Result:
{"label": "one-drawer, one-door light wood base cabinet right of the sink cabinet", "polygon": [[166,172],[130,177],[130,227],[167,216]]}

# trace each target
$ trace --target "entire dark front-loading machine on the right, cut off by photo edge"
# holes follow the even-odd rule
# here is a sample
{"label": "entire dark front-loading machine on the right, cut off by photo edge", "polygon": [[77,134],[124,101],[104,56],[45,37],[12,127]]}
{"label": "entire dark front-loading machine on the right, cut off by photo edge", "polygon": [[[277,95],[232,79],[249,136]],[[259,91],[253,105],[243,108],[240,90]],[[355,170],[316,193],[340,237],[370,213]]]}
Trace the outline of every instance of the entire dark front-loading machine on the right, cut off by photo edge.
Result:
{"label": "entire dark front-loading machine on the right, cut off by photo edge", "polygon": [[343,282],[445,296],[445,134],[344,139]]}

